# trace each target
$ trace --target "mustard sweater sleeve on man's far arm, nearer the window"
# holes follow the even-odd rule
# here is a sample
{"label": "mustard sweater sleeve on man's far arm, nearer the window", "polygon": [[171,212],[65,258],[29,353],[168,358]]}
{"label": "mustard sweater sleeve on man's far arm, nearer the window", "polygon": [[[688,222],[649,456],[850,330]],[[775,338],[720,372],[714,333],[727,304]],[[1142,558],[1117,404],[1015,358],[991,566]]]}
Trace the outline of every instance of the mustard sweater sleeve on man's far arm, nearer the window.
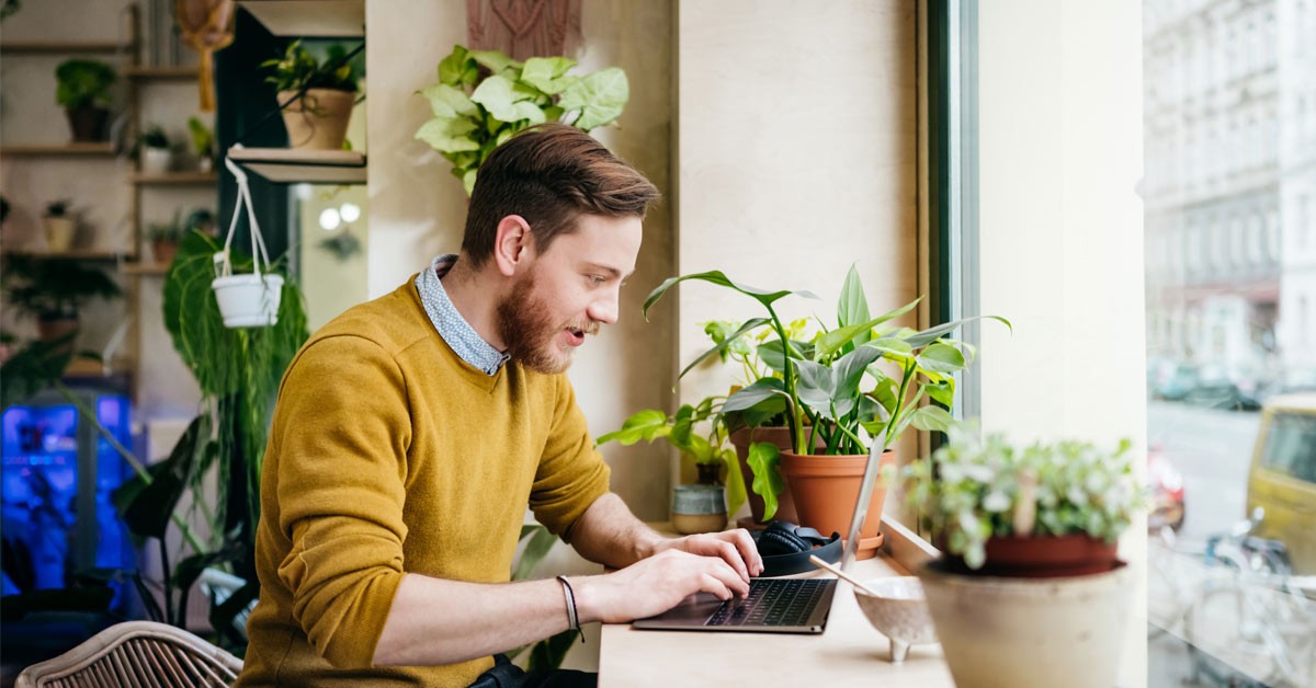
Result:
{"label": "mustard sweater sleeve on man's far arm, nearer the window", "polygon": [[566,375],[558,375],[553,428],[530,488],[530,509],[550,531],[571,542],[571,526],[608,492],[608,464],[594,449],[584,413]]}

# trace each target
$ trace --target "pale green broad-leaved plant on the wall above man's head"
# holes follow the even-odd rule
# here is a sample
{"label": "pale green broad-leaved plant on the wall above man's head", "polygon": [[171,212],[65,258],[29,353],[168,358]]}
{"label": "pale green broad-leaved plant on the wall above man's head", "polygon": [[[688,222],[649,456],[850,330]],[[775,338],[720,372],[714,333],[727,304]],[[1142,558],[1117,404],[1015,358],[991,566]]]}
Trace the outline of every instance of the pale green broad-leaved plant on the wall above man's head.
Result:
{"label": "pale green broad-leaved plant on the wall above man's head", "polygon": [[630,99],[626,72],[567,74],[575,63],[562,57],[517,62],[496,50],[453,46],[438,63],[438,83],[417,91],[434,117],[416,138],[453,163],[453,176],[470,195],[480,163],[512,134],[553,121],[590,132],[621,114]]}

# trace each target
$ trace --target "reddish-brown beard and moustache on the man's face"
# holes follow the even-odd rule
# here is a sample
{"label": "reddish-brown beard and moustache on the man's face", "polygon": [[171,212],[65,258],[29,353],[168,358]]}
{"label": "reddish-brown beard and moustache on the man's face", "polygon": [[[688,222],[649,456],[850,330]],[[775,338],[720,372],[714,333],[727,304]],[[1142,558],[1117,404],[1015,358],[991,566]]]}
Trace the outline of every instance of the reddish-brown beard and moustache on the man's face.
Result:
{"label": "reddish-brown beard and moustache on the man's face", "polygon": [[597,334],[599,324],[554,324],[550,312],[549,304],[536,293],[532,272],[517,280],[512,295],[497,305],[497,324],[512,360],[536,372],[557,375],[571,367],[575,347],[558,345],[555,338],[566,329]]}

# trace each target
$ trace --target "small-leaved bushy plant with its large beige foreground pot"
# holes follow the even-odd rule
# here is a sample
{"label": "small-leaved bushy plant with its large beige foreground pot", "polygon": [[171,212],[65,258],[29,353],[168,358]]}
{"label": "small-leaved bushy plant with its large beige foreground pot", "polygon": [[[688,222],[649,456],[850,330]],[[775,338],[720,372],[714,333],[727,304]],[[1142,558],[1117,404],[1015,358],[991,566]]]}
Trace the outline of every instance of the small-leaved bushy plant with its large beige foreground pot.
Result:
{"label": "small-leaved bushy plant with its large beige foreground pot", "polygon": [[1115,543],[1145,501],[1129,446],[955,424],[901,472],[942,549],[919,577],[957,685],[1116,683],[1133,585]]}

